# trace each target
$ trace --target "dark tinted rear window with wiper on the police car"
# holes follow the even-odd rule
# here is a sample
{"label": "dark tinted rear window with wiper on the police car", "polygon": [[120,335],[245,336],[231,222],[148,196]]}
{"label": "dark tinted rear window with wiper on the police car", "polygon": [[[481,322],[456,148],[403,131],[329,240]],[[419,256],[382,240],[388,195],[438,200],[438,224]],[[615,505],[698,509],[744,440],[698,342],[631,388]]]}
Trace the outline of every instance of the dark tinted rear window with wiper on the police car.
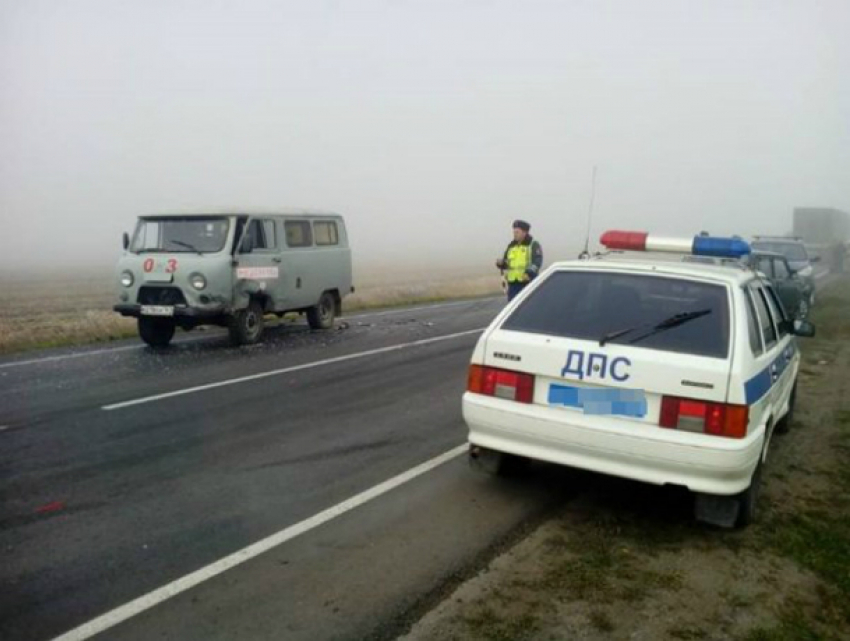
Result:
{"label": "dark tinted rear window with wiper on the police car", "polygon": [[678,278],[553,272],[502,329],[726,358],[727,290]]}

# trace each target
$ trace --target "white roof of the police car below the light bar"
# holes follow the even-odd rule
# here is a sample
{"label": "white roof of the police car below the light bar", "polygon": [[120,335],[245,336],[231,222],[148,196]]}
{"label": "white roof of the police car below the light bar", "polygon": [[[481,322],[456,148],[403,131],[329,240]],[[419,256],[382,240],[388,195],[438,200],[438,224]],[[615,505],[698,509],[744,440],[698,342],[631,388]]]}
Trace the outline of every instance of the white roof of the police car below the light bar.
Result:
{"label": "white roof of the police car below the light bar", "polygon": [[[645,256],[645,257],[644,257]],[[737,261],[718,265],[682,262],[678,254],[607,254],[590,260],[570,260],[554,263],[556,269],[582,271],[618,271],[643,274],[665,274],[711,280],[728,285],[742,285],[755,276],[755,272]]]}

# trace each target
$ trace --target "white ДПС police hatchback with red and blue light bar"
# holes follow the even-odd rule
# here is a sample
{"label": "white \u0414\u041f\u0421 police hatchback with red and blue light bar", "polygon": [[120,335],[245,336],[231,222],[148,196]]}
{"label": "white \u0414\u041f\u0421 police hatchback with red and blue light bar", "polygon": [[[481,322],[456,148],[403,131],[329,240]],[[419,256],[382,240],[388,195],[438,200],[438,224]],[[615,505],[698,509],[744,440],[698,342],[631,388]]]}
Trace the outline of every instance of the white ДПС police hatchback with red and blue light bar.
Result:
{"label": "white \u0414\u041f\u0421 police hatchback with red and blue light bar", "polygon": [[740,239],[606,232],[609,253],[552,265],[478,341],[463,416],[470,460],[539,459],[696,493],[697,518],[746,525],[773,432],[787,428],[800,356]]}

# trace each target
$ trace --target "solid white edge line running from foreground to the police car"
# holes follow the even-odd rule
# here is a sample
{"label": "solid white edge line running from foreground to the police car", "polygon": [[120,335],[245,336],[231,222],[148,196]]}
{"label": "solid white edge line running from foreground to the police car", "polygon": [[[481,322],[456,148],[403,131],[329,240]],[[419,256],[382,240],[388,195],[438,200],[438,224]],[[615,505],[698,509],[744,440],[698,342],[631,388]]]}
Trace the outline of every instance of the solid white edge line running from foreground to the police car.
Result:
{"label": "solid white edge line running from foreground to the police car", "polygon": [[350,499],[346,499],[342,503],[337,503],[333,507],[329,507],[328,509],[321,511],[300,523],[290,525],[289,527],[261,539],[246,548],[242,548],[238,552],[234,552],[229,556],[210,563],[200,570],[195,570],[191,574],[187,574],[176,581],[172,581],[171,583],[157,588],[152,592],[148,592],[144,596],[134,599],[129,603],[125,603],[114,610],[110,610],[106,614],[103,614],[96,619],[92,619],[88,623],[84,623],[63,635],[56,637],[54,641],[83,641],[84,639],[89,639],[96,634],[100,634],[101,632],[108,630],[109,628],[136,616],[137,614],[141,614],[145,610],[149,610],[150,608],[177,596],[181,592],[185,592],[196,585],[200,585],[204,581],[208,581],[209,579],[218,576],[222,572],[226,572],[227,570],[235,568],[246,561],[250,561],[260,554],[268,552],[272,548],[294,539],[296,536],[305,534],[310,530],[345,514],[346,512],[350,512],[351,510],[378,498],[382,494],[386,494],[390,490],[412,481],[418,476],[422,476],[426,472],[430,472],[443,463],[447,463],[448,461],[457,458],[466,450],[466,444],[458,445],[457,447],[450,449],[448,452],[435,456],[434,458],[425,461],[406,472],[402,472],[401,474],[379,483],[360,494],[352,496]]}

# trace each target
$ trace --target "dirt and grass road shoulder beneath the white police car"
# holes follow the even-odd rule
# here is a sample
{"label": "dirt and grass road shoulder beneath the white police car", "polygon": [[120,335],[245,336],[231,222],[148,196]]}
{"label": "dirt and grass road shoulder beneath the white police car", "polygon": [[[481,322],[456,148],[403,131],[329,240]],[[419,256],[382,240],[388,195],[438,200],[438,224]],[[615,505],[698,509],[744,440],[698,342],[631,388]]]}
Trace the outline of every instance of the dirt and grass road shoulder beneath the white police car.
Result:
{"label": "dirt and grass road shoulder beneath the white police car", "polygon": [[405,641],[850,638],[850,278],[830,279],[813,320],[753,526],[702,526],[687,493],[580,475],[574,501]]}

